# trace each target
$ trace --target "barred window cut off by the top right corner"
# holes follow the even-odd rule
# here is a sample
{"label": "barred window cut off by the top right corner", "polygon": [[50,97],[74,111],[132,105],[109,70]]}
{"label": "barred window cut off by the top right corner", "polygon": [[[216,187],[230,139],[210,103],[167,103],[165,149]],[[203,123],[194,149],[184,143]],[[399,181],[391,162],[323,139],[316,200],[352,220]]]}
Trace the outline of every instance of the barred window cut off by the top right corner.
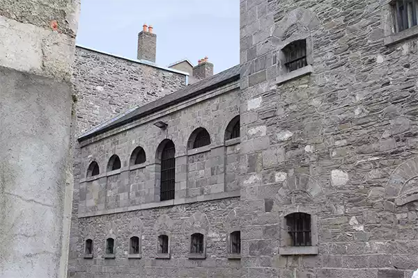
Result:
{"label": "barred window cut off by the top right corner", "polygon": [[395,32],[417,25],[418,0],[395,0],[392,1]]}

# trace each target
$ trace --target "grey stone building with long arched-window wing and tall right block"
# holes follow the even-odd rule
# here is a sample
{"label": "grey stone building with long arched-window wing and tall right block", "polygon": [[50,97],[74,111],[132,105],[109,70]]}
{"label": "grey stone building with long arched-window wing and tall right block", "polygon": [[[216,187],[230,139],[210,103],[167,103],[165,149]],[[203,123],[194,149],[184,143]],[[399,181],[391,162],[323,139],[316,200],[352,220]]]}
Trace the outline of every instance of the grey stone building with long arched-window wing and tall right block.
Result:
{"label": "grey stone building with long arched-window wing and tall right block", "polygon": [[411,277],[407,2],[241,0],[240,65],[79,137],[70,277]]}

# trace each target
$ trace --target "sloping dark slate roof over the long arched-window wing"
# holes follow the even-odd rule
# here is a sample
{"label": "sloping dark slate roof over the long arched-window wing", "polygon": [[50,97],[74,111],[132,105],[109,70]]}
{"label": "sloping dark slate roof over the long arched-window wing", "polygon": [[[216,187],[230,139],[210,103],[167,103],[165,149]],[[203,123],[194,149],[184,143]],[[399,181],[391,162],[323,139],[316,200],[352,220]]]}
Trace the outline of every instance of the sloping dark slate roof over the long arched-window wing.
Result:
{"label": "sloping dark slate roof over the long arched-window wing", "polygon": [[187,85],[181,90],[173,92],[170,95],[166,95],[165,97],[150,102],[149,104],[145,104],[144,106],[131,108],[130,111],[126,111],[124,114],[118,115],[112,120],[104,122],[103,124],[96,126],[94,129],[87,131],[82,136],[80,136],[78,140],[82,141],[103,133],[104,131],[108,131],[109,129],[114,129],[117,126],[127,124],[128,122],[133,122],[134,120],[137,120],[151,113],[155,113],[156,111],[160,111],[164,108],[172,106],[173,104],[178,104],[181,101],[185,101],[186,99],[190,99],[210,90],[214,90],[215,88],[218,88],[222,85],[238,81],[238,79],[240,79],[240,65],[231,67],[224,72],[219,72],[219,74],[215,74],[214,76],[211,76],[192,85]]}

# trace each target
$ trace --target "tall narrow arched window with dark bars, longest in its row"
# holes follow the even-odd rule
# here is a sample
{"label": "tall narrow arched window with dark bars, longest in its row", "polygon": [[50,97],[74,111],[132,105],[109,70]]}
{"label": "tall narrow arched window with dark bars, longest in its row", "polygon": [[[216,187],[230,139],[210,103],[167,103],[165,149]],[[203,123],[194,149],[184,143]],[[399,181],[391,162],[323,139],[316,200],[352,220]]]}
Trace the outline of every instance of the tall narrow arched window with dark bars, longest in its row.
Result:
{"label": "tall narrow arched window with dark bars, longest in its row", "polygon": [[174,186],[176,183],[176,149],[172,141],[167,142],[161,154],[161,184],[160,200],[174,199]]}

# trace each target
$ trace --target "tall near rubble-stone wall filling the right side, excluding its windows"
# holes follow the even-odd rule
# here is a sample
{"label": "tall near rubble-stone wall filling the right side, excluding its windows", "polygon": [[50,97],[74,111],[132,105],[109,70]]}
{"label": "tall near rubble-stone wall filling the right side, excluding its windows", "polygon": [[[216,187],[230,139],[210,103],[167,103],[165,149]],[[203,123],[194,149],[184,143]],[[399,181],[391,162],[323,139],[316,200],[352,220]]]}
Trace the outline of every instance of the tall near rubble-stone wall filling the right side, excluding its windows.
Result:
{"label": "tall near rubble-stone wall filling the right side, excluding its windows", "polygon": [[[240,1],[242,277],[418,268],[418,42],[385,45],[388,4]],[[281,49],[301,38],[311,67],[288,74]],[[293,212],[317,254],[284,255]]]}

